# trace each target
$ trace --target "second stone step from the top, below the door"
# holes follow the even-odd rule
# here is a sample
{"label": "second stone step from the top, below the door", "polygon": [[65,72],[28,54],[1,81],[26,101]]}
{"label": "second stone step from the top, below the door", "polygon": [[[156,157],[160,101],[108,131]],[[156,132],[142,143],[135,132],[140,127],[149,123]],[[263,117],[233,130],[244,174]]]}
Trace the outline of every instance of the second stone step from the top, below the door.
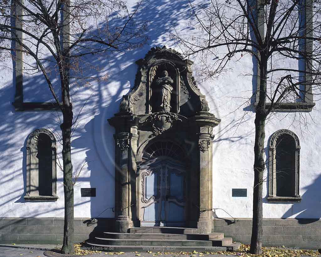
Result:
{"label": "second stone step from the top, below the door", "polygon": [[116,239],[176,239],[176,240],[213,240],[223,239],[224,233],[211,234],[163,234],[163,233],[113,233],[104,232],[101,237]]}

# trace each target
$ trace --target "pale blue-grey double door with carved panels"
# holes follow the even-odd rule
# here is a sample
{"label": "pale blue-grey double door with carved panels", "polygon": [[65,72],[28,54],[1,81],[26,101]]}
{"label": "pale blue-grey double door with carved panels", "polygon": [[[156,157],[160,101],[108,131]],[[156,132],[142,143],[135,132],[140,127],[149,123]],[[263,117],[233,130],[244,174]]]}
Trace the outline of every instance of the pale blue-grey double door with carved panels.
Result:
{"label": "pale blue-grey double door with carved panels", "polygon": [[142,226],[184,226],[184,166],[170,158],[155,158],[140,169]]}

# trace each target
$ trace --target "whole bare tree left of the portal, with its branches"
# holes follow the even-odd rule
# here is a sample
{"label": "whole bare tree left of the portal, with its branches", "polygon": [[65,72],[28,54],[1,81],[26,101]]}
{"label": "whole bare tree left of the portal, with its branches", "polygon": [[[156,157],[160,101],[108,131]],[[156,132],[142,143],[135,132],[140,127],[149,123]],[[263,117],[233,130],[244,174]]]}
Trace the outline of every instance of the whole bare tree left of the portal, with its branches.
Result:
{"label": "whole bare tree left of the portal, with its branches", "polygon": [[[62,252],[74,252],[74,185],[71,135],[75,119],[70,83],[92,80],[83,65],[92,54],[136,49],[146,43],[147,21],[135,20],[121,0],[4,0],[0,3],[0,58],[17,73],[40,72],[61,111],[65,226]],[[23,53],[23,54],[18,54]],[[20,57],[19,57],[20,56]],[[24,57],[22,57],[24,56]],[[22,66],[27,66],[23,69]],[[51,74],[56,74],[55,88]],[[55,78],[54,78],[55,79]],[[45,89],[45,88],[44,88]]]}

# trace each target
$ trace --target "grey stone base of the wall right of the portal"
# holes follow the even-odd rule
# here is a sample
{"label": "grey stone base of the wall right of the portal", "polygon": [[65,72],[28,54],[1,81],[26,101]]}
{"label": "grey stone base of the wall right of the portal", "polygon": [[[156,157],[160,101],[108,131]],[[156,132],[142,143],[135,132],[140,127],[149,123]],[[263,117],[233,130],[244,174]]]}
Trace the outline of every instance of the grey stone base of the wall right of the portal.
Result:
{"label": "grey stone base of the wall right of the portal", "polygon": [[[213,220],[214,232],[243,244],[251,243],[252,219]],[[282,246],[300,249],[321,248],[321,219],[265,218],[263,219],[263,246]]]}

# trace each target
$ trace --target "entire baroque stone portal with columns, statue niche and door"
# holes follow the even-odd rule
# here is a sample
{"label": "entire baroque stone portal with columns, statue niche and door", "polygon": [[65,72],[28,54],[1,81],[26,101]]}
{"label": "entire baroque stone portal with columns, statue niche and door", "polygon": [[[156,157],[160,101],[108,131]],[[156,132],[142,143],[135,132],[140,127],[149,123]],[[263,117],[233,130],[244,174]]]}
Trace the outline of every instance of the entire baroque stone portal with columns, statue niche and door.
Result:
{"label": "entire baroque stone portal with columns, statue niche and door", "polygon": [[138,60],[115,127],[116,231],[132,226],[196,227],[212,232],[212,131],[192,64],[165,46]]}

